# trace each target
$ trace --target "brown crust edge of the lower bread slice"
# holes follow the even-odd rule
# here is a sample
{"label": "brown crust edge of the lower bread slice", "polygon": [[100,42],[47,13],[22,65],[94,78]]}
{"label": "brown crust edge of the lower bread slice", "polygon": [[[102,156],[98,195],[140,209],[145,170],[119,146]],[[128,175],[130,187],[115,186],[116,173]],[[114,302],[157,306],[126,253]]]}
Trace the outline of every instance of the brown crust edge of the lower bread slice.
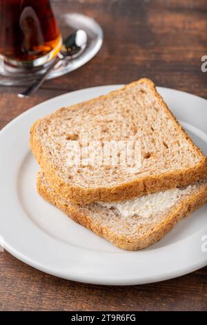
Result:
{"label": "brown crust edge of the lower bread slice", "polygon": [[73,221],[76,221],[83,227],[92,230],[97,235],[103,237],[104,239],[110,241],[117,247],[123,250],[141,250],[153,243],[159,241],[167,232],[169,232],[175,224],[188,216],[191,212],[197,210],[201,205],[204,205],[207,201],[207,183],[201,189],[198,189],[197,192],[188,195],[181,199],[181,201],[170,208],[166,212],[166,218],[164,222],[155,225],[155,228],[150,233],[139,236],[137,238],[130,238],[124,236],[123,234],[117,234],[112,232],[107,227],[100,225],[99,223],[93,223],[90,219],[90,216],[87,214],[81,214],[80,209],[77,205],[75,208],[72,205],[64,204],[65,200],[61,199],[59,194],[51,192],[51,190],[43,183],[41,176],[37,177],[37,190],[39,194],[49,203],[58,207],[63,213],[70,217]]}

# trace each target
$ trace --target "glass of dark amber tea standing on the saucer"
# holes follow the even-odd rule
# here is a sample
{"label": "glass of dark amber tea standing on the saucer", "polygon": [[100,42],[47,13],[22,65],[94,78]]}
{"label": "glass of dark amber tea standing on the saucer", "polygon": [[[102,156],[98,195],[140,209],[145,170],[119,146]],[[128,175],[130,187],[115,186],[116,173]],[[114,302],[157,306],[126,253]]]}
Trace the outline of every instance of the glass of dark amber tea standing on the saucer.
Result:
{"label": "glass of dark amber tea standing on the saucer", "polygon": [[0,54],[6,60],[38,66],[60,47],[61,34],[49,0],[0,0]]}

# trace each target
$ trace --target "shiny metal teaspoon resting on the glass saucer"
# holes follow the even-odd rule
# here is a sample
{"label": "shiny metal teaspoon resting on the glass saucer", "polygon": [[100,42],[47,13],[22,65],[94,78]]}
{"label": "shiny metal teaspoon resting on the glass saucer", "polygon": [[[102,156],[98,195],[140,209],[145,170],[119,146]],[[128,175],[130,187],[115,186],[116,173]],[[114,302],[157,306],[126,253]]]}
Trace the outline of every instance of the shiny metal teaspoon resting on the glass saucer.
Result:
{"label": "shiny metal teaspoon resting on the glass saucer", "polygon": [[69,37],[64,39],[63,46],[61,48],[61,51],[59,55],[56,57],[54,62],[50,64],[48,70],[41,75],[41,77],[34,82],[26,91],[23,91],[23,93],[19,93],[18,97],[24,98],[29,97],[34,93],[34,91],[37,91],[41,84],[46,80],[46,77],[48,73],[56,66],[56,64],[61,61],[61,59],[75,59],[78,57],[83,50],[85,50],[87,44],[87,34],[84,30],[77,30],[76,32],[72,33]]}

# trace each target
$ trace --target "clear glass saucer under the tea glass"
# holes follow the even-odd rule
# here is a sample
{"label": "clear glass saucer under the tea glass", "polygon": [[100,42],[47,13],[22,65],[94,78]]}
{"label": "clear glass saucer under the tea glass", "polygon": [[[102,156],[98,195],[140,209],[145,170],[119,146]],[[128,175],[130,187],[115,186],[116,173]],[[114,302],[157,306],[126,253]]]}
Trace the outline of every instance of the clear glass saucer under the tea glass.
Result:
{"label": "clear glass saucer under the tea glass", "polygon": [[[79,57],[71,60],[63,59],[58,62],[55,68],[48,74],[47,79],[65,75],[83,66],[83,64],[86,64],[97,54],[103,43],[103,30],[94,19],[77,12],[69,12],[61,15],[57,20],[63,34],[63,39],[74,30],[83,29],[87,32],[88,41],[86,50]],[[0,84],[4,86],[28,85],[43,74],[50,64],[51,62],[48,62],[44,66],[41,66],[41,68],[22,68],[11,66],[0,57]]]}

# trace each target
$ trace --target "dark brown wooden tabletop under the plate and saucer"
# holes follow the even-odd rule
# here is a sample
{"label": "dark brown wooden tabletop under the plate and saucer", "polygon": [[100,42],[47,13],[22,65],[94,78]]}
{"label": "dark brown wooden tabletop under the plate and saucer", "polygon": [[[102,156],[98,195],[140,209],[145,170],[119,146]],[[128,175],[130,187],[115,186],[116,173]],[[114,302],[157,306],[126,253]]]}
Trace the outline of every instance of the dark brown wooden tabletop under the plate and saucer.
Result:
{"label": "dark brown wooden tabletop under the plate and saucer", "polygon": [[[99,21],[104,44],[82,68],[43,84],[30,99],[0,87],[0,128],[34,104],[90,86],[150,77],[159,86],[207,98],[206,0],[54,0],[57,15],[83,12]],[[195,107],[196,109],[196,107]],[[3,153],[1,153],[3,154]],[[2,217],[2,216],[1,216]],[[207,267],[157,284],[112,287],[58,279],[0,253],[1,310],[207,310]]]}

